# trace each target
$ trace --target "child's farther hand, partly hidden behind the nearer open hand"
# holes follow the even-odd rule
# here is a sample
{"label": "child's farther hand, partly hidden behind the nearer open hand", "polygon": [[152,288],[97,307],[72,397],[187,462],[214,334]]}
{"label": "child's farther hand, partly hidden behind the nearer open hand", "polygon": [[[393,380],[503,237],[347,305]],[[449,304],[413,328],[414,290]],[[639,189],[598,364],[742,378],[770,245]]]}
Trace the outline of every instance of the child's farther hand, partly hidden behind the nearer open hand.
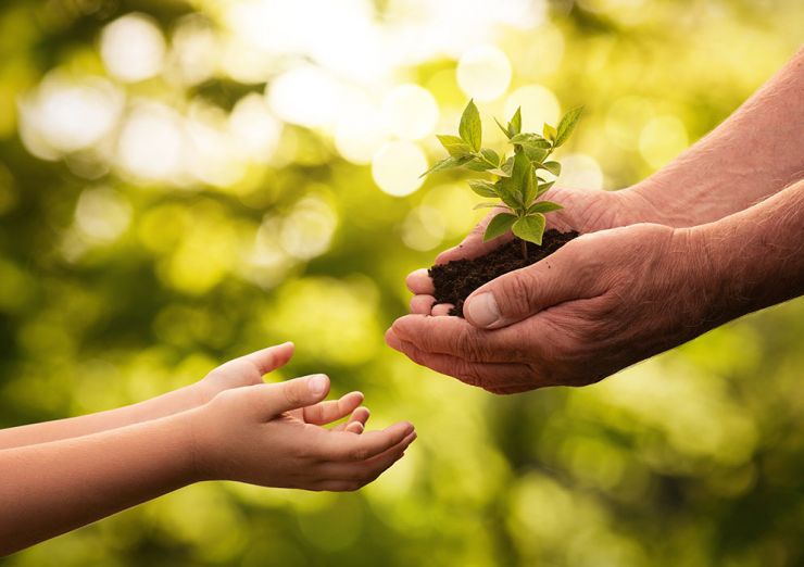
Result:
{"label": "child's farther hand, partly hidden behind the nearer open hand", "polygon": [[[225,390],[263,383],[263,375],[288,364],[293,356],[293,349],[292,342],[285,342],[222,364],[193,385],[199,398],[198,405],[210,402]],[[293,410],[290,413],[307,424],[325,425],[346,417],[352,412],[350,418],[344,424],[336,426],[335,429],[362,433],[369,415],[368,408],[359,407],[362,402],[362,393],[350,392],[340,400],[322,402],[314,406]]]}

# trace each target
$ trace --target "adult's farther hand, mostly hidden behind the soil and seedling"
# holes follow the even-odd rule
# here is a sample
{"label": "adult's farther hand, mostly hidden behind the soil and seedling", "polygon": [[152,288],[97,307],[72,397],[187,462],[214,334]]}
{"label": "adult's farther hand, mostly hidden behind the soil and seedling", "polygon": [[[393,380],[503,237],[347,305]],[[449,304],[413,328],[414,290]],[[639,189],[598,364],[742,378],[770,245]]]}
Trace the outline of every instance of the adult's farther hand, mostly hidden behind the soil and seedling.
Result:
{"label": "adult's farther hand, mostly hidden behind the soil and seedling", "polygon": [[[628,189],[596,191],[558,187],[548,191],[544,199],[564,205],[564,209],[545,215],[548,230],[555,228],[562,232],[577,230],[580,234],[588,234],[640,223],[649,215],[655,216],[651,204],[640,193]],[[436,264],[481,256],[508,242],[513,238],[511,232],[483,242],[486,226],[497,213],[497,211],[490,213],[458,245],[441,252],[436,257]],[[411,299],[411,313],[447,315],[452,308],[450,304],[434,305],[436,301],[432,295],[435,289],[426,268],[411,273],[407,276],[406,284],[407,288],[414,293]]]}

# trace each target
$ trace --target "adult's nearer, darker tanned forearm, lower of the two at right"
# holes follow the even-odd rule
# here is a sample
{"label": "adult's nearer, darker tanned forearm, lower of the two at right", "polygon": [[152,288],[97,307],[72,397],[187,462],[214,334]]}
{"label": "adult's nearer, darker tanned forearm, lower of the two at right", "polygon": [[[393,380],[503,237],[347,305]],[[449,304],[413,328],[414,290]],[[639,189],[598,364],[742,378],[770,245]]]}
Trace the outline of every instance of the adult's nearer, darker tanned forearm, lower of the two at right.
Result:
{"label": "adult's nearer, darker tanned forearm, lower of the two at right", "polygon": [[724,323],[804,294],[804,179],[745,211],[688,229]]}

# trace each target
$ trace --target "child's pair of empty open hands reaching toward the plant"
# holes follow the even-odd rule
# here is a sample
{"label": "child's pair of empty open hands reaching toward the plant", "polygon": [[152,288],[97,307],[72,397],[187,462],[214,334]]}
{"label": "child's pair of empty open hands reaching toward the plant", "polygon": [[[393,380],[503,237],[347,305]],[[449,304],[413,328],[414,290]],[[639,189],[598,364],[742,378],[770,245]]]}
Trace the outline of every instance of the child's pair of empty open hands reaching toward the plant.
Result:
{"label": "child's pair of empty open hands reaching toward the plant", "polygon": [[[356,490],[399,461],[416,439],[411,424],[364,431],[363,394],[325,401],[324,375],[264,383],[288,363],[285,343],[227,362],[196,385],[199,407],[188,412],[193,469],[199,480],[264,487]],[[338,426],[323,426],[349,416]]]}

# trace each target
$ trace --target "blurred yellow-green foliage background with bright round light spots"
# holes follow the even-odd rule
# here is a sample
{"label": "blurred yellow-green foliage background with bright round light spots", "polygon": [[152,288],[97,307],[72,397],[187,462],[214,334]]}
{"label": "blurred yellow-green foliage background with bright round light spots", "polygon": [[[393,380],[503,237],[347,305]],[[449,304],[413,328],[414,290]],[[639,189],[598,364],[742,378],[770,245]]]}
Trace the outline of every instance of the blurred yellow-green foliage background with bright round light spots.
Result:
{"label": "blurred yellow-green foliage background with bright round light spots", "polygon": [[801,565],[801,301],[512,398],[382,330],[405,274],[477,218],[456,177],[411,180],[468,96],[498,116],[585,104],[564,181],[615,189],[728,116],[802,29],[797,0],[5,0],[0,426],[293,340],[274,378],[327,371],[419,441],[360,493],[203,483],[0,563]]}

